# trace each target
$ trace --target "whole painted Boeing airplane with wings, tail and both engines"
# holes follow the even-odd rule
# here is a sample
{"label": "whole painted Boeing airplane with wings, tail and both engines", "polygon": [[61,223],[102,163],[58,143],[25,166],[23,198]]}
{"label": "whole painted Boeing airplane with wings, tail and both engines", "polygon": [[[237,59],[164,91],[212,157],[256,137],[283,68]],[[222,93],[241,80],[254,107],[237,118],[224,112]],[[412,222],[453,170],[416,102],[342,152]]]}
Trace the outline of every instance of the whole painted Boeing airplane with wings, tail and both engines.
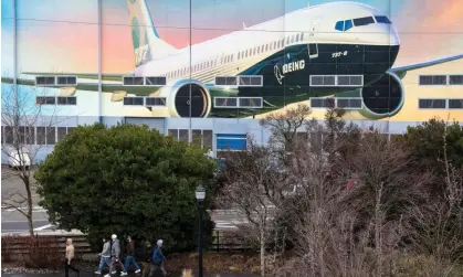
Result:
{"label": "whole painted Boeing airplane with wings, tail and both engines", "polygon": [[[165,109],[171,117],[246,117],[335,95],[359,97],[358,111],[380,119],[402,108],[408,71],[463,57],[462,53],[392,67],[400,49],[397,30],[382,12],[358,2],[306,7],[191,50],[175,49],[159,38],[145,0],[127,0],[127,6],[136,68],[103,74],[103,81],[114,83],[104,83],[102,90],[113,93],[113,102],[127,95],[165,97],[166,106],[150,108]],[[23,74],[98,79],[98,74],[86,73]],[[165,76],[167,85],[124,86],[124,76]],[[248,83],[239,77],[227,86],[228,81],[215,84],[218,76],[260,77]],[[35,85],[33,79],[17,82]],[[98,90],[98,84],[78,82],[75,89]]]}

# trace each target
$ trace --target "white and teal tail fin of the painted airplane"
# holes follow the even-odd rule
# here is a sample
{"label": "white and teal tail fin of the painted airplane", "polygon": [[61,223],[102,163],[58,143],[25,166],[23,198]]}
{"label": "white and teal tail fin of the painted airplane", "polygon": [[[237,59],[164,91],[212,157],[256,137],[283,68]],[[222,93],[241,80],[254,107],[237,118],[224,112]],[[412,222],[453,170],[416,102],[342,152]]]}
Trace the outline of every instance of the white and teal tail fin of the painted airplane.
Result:
{"label": "white and teal tail fin of the painted airplane", "polygon": [[131,43],[135,52],[136,66],[150,60],[157,60],[177,51],[162,41],[155,28],[146,0],[126,0],[129,24],[131,26]]}

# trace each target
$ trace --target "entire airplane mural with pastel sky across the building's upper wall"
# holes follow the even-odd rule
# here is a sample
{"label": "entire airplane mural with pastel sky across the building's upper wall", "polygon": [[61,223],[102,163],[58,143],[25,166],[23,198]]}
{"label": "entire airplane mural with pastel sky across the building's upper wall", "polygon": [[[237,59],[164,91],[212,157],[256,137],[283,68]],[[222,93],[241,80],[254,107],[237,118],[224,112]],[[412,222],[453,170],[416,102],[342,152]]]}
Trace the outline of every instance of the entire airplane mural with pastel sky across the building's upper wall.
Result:
{"label": "entire airplane mural with pastel sky across the building's upper wall", "polygon": [[2,94],[15,76],[29,105],[77,116],[260,118],[304,103],[318,118],[334,105],[463,119],[461,0],[98,2],[2,1]]}

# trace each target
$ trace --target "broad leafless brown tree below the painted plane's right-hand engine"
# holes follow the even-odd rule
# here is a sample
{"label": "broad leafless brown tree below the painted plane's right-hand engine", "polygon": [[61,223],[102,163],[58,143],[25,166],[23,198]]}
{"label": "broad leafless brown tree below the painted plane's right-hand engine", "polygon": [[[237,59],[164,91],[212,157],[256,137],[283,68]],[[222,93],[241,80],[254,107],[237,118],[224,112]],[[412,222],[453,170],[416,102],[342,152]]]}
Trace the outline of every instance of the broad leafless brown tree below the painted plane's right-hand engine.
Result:
{"label": "broad leafless brown tree below the painted plane's right-hand engine", "polygon": [[[387,234],[403,226],[403,215],[425,199],[427,174],[418,172],[410,149],[399,141],[389,141],[378,131],[362,136],[357,153],[343,161],[356,179],[356,190],[348,202],[362,211],[365,226],[371,225],[375,245],[376,276],[383,276],[388,253],[398,241],[390,243]],[[404,230],[401,230],[404,235]],[[396,237],[396,239],[400,238]],[[389,242],[390,245],[385,245]]]}

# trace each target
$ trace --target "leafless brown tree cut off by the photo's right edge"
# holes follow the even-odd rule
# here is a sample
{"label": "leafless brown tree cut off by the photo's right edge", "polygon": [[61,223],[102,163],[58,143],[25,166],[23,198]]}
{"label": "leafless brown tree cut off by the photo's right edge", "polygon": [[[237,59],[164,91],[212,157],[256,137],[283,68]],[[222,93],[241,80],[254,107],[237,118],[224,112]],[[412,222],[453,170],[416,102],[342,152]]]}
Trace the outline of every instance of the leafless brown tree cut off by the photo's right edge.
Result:
{"label": "leafless brown tree cut off by the photo's right edge", "polygon": [[423,270],[428,276],[450,276],[463,258],[463,169],[455,168],[448,158],[448,124],[443,137],[443,164],[441,180],[443,198],[430,195],[430,200],[411,212],[415,232],[411,236],[414,253],[432,258]]}

